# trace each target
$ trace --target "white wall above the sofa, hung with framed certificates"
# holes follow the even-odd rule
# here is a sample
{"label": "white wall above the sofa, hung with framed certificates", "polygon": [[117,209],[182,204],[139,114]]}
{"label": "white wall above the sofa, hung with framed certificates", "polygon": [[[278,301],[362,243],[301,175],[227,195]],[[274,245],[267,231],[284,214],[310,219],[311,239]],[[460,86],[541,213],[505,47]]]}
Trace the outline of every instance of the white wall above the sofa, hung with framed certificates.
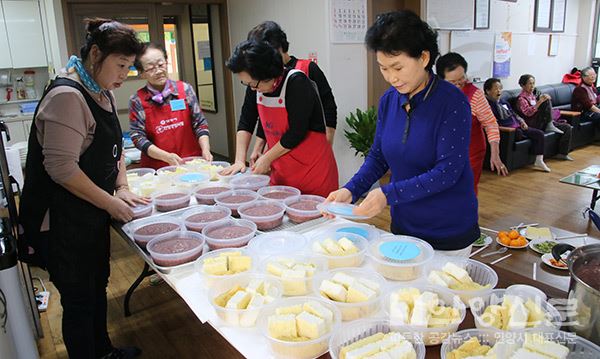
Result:
{"label": "white wall above the sofa, hung with framed certificates", "polygon": [[[512,32],[511,74],[502,80],[505,89],[518,88],[519,76],[525,73],[534,75],[538,84],[556,83],[574,66],[590,64],[595,0],[567,2],[565,32],[553,34],[559,38],[558,56],[548,56],[549,34],[533,32],[534,5],[535,0],[491,1],[490,30],[481,31]],[[439,36],[444,54],[450,50],[450,32],[440,31]]]}

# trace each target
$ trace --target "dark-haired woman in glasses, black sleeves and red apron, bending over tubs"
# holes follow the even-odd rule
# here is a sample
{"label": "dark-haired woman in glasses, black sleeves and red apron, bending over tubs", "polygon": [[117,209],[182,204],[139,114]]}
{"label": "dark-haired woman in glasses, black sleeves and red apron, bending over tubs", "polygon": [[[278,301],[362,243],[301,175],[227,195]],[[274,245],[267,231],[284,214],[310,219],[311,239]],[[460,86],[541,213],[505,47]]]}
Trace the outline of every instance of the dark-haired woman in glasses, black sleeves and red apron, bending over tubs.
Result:
{"label": "dark-haired woman in glasses, black sleeves and red apron, bending over tubs", "polygon": [[227,67],[247,92],[236,138],[235,163],[226,174],[243,171],[248,145],[258,118],[269,150],[252,166],[254,173],[271,173],[272,185],[298,188],[305,194],[326,196],[338,188],[338,171],[319,97],[299,70],[285,69],[281,56],[266,42],[244,41]]}

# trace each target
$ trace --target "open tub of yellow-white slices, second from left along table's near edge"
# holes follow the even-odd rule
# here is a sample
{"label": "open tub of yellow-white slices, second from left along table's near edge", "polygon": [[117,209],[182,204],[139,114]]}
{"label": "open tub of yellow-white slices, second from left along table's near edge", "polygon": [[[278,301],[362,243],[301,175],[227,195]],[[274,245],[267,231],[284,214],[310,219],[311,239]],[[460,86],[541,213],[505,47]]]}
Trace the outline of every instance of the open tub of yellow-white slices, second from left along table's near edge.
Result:
{"label": "open tub of yellow-white slices, second from left along table's near edge", "polygon": [[272,297],[277,300],[281,298],[282,287],[279,281],[274,280],[273,278],[257,274],[257,273],[244,273],[232,278],[228,278],[218,283],[210,289],[208,292],[208,299],[210,300],[210,304],[215,309],[217,316],[221,319],[221,322],[227,326],[233,327],[254,327],[256,325],[256,321],[260,314],[260,310],[270,303],[265,303],[264,305],[251,309],[233,309],[233,308],[225,308],[215,303],[215,298],[219,295],[227,292],[228,290],[234,288],[235,286],[240,286],[242,288],[246,288],[250,281],[252,280],[261,280],[269,284],[269,287],[274,288],[272,290]]}

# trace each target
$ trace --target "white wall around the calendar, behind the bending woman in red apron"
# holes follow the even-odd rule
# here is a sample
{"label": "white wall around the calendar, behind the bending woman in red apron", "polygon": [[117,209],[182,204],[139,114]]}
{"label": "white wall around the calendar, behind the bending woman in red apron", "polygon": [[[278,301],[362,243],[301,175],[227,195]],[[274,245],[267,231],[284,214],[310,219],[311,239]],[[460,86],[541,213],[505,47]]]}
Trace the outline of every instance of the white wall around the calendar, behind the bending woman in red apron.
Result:
{"label": "white wall around the calendar, behind the bending woman in red apron", "polygon": [[[344,118],[356,108],[367,107],[367,56],[363,44],[329,43],[329,1],[323,0],[229,0],[231,48],[245,40],[255,25],[273,20],[286,32],[289,53],[306,58],[316,52],[319,67],[333,89],[338,106],[338,126],[334,152],[340,172],[340,185],[356,172],[362,160],[354,156],[344,137]],[[245,88],[234,76],[236,122],[239,118]]]}

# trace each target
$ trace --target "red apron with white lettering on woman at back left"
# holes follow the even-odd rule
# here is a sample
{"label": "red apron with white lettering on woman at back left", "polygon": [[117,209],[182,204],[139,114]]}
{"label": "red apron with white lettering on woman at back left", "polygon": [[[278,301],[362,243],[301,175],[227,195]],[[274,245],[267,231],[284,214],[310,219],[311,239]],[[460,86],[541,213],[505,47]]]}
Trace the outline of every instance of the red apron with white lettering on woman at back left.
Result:
{"label": "red apron with white lettering on woman at back left", "polygon": [[[171,110],[171,105],[155,103],[145,88],[137,94],[146,115],[146,137],[161,150],[176,153],[179,157],[200,156],[202,151],[192,128],[192,114],[185,98],[183,82],[177,81],[177,100],[183,100],[185,109]],[[176,99],[172,98],[171,101]],[[142,167],[158,169],[169,164],[142,153]]]}

